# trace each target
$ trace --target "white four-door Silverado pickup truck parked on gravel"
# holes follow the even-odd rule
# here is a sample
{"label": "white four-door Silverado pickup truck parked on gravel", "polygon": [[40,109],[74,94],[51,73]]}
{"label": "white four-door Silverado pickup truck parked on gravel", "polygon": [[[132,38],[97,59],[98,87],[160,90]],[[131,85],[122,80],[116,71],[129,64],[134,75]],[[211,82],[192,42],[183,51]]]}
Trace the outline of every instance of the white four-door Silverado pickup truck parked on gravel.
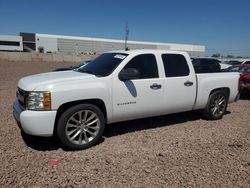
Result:
{"label": "white four-door Silverado pickup truck parked on gravel", "polygon": [[220,119],[238,81],[238,73],[196,74],[186,52],[113,51],[77,70],[22,78],[13,114],[27,134],[84,149],[114,122],[197,109]]}

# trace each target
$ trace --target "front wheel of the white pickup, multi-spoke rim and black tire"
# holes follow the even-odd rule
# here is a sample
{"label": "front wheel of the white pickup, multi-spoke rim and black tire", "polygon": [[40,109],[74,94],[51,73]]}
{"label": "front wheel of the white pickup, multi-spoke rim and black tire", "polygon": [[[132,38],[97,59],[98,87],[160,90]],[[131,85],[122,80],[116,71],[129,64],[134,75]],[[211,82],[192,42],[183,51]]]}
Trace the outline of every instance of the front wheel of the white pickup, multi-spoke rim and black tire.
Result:
{"label": "front wheel of the white pickup, multi-spoke rim and black tire", "polygon": [[102,111],[92,104],[79,104],[66,110],[59,118],[57,136],[70,150],[86,149],[101,138],[105,119]]}

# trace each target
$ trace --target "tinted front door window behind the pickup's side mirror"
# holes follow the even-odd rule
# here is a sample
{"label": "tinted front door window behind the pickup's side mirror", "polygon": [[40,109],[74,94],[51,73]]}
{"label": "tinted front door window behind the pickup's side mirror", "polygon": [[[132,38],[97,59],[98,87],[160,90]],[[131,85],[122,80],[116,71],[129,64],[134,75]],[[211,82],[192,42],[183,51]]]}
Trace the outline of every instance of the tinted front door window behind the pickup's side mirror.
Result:
{"label": "tinted front door window behind the pickup's side mirror", "polygon": [[124,69],[127,68],[136,68],[140,73],[139,79],[159,77],[157,62],[153,54],[143,54],[134,57],[124,67]]}

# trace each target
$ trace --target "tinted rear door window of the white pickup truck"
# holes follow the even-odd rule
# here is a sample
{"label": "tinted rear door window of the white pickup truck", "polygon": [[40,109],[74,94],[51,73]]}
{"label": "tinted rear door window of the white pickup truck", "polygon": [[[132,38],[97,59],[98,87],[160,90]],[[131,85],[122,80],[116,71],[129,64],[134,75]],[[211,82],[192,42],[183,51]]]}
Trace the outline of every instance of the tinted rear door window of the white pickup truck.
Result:
{"label": "tinted rear door window of the white pickup truck", "polygon": [[187,61],[180,54],[162,54],[166,77],[179,77],[189,75]]}

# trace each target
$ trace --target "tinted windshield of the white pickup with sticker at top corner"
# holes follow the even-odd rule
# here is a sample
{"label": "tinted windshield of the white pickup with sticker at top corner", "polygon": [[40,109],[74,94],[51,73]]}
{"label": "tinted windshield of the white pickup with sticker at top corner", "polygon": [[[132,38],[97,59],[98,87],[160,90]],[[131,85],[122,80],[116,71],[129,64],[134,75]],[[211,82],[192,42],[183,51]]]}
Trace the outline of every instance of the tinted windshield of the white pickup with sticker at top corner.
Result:
{"label": "tinted windshield of the white pickup with sticker at top corner", "polygon": [[127,56],[125,53],[104,53],[77,71],[101,77],[108,76]]}

